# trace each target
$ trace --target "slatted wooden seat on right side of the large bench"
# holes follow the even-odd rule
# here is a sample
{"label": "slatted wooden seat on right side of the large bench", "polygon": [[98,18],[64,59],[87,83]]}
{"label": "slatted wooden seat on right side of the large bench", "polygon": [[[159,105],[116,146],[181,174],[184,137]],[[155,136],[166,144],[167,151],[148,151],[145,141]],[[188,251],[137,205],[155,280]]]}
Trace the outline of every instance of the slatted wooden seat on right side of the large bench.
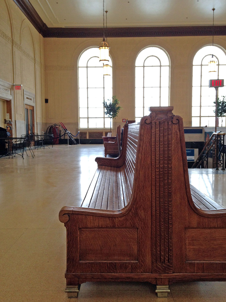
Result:
{"label": "slatted wooden seat on right side of the large bench", "polygon": [[221,210],[224,209],[220,204],[212,198],[205,195],[190,184],[191,196],[196,207],[202,210]]}

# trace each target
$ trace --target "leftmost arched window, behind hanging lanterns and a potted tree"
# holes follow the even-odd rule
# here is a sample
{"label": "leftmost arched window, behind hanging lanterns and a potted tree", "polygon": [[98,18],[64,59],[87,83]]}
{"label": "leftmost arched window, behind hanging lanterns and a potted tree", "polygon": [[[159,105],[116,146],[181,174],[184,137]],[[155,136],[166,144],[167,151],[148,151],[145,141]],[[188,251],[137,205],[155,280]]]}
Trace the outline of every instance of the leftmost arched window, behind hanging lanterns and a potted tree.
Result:
{"label": "leftmost arched window, behind hanging lanterns and a potted tree", "polygon": [[[112,66],[111,58],[109,65]],[[112,72],[111,72],[112,74]],[[78,60],[79,128],[110,128],[103,101],[112,98],[112,76],[103,76],[99,49],[85,50]]]}

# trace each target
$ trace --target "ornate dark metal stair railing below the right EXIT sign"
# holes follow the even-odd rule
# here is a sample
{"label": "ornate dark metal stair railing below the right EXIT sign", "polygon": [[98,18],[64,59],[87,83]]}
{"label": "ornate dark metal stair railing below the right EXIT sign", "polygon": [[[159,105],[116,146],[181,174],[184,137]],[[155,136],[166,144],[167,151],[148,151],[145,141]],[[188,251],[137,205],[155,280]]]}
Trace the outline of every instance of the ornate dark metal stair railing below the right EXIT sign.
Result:
{"label": "ornate dark metal stair railing below the right EXIT sign", "polygon": [[206,145],[202,149],[202,152],[199,154],[198,158],[192,165],[192,168],[208,168],[208,161],[212,150],[212,168],[215,170],[225,170],[224,169],[224,136],[225,133],[214,132],[209,140],[206,142]]}

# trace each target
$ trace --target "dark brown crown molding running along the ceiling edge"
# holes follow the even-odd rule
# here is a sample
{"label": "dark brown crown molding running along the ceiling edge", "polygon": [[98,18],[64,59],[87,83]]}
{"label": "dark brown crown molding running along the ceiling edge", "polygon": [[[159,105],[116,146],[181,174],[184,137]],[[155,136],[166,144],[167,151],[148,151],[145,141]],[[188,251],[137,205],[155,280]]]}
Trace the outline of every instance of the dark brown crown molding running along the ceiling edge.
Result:
{"label": "dark brown crown molding running along the ceiling edge", "polygon": [[[13,0],[36,30],[45,38],[99,38],[102,27],[47,27],[29,0]],[[226,36],[225,25],[162,26],[162,27],[108,27],[107,37],[179,37]]]}

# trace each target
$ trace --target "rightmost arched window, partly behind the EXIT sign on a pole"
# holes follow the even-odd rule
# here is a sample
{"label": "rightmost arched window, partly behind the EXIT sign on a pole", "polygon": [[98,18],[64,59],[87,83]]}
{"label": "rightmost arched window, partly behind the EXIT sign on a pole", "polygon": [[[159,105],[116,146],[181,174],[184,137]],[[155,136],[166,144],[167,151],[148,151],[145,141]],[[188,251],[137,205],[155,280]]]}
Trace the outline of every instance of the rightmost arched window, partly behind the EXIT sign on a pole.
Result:
{"label": "rightmost arched window, partly behind the EXIT sign on a pole", "polygon": [[[213,54],[213,58],[212,58]],[[217,61],[217,71],[209,72],[208,62]],[[226,55],[217,46],[205,46],[197,51],[193,59],[192,77],[192,126],[214,127],[216,90],[209,88],[210,79],[224,79],[226,77]],[[226,87],[218,88],[218,96],[226,95]],[[223,120],[225,126],[225,118]]]}

